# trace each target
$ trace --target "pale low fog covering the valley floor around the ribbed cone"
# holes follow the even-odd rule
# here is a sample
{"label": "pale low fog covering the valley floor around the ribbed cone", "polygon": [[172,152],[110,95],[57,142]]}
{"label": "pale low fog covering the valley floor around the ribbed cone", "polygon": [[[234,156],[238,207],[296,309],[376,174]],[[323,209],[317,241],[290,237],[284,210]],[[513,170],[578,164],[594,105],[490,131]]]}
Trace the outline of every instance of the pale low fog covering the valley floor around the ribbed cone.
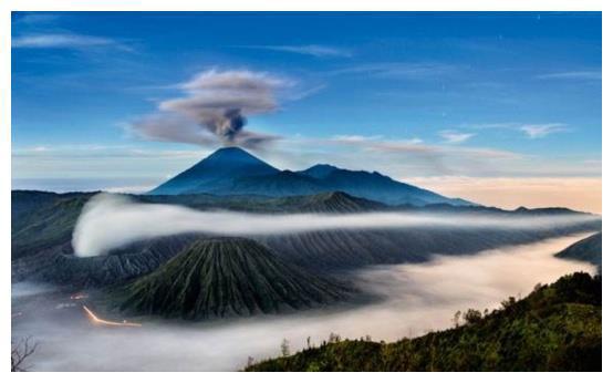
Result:
{"label": "pale low fog covering the valley floor around the ribbed cone", "polygon": [[[435,258],[422,265],[382,266],[355,273],[359,286],[385,297],[381,302],[329,311],[303,311],[215,323],[144,322],[142,328],[91,324],[80,301],[67,294],[13,284],[13,340],[32,337],[39,348],[31,370],[225,371],[280,353],[283,338],[292,352],[311,337],[371,335],[393,341],[453,324],[457,310],[497,308],[509,296],[526,296],[539,282],[591,265],[552,255],[586,235],[482,251],[470,257]],[[21,294],[29,288],[28,294]],[[98,312],[100,317],[105,317]],[[106,317],[105,317],[106,318]],[[118,318],[113,318],[118,319]]]}

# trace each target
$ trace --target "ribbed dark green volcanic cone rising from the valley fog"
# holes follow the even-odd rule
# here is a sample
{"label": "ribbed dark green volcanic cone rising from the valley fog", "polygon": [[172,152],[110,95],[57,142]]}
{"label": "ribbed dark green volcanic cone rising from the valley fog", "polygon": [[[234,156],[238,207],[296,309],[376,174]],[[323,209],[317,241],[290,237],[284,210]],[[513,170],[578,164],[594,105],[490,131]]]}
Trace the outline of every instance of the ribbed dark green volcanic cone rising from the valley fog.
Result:
{"label": "ribbed dark green volcanic cone rising from the valley fog", "polygon": [[184,319],[276,313],[349,297],[339,282],[279,260],[250,239],[195,241],[122,289],[121,309]]}

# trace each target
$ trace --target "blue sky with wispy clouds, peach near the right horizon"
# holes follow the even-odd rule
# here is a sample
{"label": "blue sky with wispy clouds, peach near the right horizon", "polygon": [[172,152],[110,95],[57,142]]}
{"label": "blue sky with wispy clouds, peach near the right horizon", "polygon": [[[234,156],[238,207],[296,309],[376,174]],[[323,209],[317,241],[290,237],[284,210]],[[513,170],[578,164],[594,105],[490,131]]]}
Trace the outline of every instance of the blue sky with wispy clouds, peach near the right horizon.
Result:
{"label": "blue sky with wispy clouds, peach near the right horizon", "polygon": [[601,34],[600,12],[17,12],[13,188],[147,189],[224,144],[138,122],[238,73],[270,85],[245,130],[279,168],[599,213]]}

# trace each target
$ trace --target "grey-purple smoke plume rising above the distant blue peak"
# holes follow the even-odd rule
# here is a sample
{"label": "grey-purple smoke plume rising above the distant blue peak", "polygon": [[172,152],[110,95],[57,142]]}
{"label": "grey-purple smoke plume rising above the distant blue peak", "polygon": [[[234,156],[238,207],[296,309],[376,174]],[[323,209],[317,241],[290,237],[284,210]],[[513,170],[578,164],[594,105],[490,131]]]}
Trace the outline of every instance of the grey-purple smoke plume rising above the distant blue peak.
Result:
{"label": "grey-purple smoke plume rising above the distant blue peak", "polygon": [[158,113],[132,128],[156,141],[257,148],[278,137],[245,130],[247,116],[276,111],[276,92],[289,85],[262,72],[207,71],[180,85],[183,96],[160,102]]}

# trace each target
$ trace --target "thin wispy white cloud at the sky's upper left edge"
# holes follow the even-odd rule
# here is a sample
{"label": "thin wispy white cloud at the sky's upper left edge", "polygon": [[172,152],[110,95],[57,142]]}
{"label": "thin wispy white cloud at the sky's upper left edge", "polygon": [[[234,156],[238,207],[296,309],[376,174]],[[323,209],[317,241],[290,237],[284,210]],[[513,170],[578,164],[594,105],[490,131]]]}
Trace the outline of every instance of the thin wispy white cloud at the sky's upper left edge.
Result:
{"label": "thin wispy white cloud at the sky's upper left edge", "polygon": [[131,48],[107,38],[85,34],[24,34],[12,40],[14,49],[90,49],[90,48],[117,48],[131,50]]}

